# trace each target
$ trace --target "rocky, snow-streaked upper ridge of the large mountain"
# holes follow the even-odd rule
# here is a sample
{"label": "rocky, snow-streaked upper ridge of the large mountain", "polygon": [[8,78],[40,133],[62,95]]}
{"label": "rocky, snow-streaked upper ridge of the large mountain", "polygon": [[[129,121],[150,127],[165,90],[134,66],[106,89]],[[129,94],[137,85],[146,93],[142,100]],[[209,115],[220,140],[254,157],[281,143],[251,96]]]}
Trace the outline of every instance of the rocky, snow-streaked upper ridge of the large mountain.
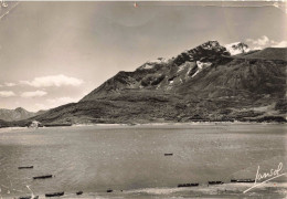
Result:
{"label": "rocky, snow-streaked upper ridge of the large mountain", "polygon": [[209,41],[176,57],[146,62],[134,72],[120,71],[81,102],[117,95],[125,90],[173,92],[174,87],[189,82],[202,70],[230,62],[228,56],[230,52],[217,41]]}

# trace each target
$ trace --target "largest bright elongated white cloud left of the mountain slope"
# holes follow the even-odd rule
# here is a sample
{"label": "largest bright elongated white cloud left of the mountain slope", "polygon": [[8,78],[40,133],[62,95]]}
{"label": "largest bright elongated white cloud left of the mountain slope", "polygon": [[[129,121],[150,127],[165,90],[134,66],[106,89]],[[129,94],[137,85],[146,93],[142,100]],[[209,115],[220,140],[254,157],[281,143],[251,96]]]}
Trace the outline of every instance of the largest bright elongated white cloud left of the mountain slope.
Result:
{"label": "largest bright elongated white cloud left of the mountain slope", "polygon": [[33,81],[20,81],[21,84],[30,85],[33,87],[51,87],[51,86],[78,86],[83,84],[83,81],[75,77],[70,77],[65,75],[51,75],[35,77]]}

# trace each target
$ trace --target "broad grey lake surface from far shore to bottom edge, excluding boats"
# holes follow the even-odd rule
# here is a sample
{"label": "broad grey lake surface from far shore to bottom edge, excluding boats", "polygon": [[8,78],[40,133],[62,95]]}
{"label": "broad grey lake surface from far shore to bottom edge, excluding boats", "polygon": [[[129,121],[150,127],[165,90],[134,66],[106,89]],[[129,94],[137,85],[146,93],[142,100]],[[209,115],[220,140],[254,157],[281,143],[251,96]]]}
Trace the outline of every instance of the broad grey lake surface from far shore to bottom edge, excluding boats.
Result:
{"label": "broad grey lake surface from far shore to bottom edge, excluding boats", "polygon": [[[269,172],[279,163],[286,172],[286,153],[287,125],[278,124],[1,129],[0,195],[29,196],[30,186],[40,198],[55,191],[65,191],[63,198],[284,198],[286,176],[246,193],[253,184],[230,180],[255,179],[258,166]],[[211,180],[225,184],[208,186]],[[177,188],[184,182],[200,186]]]}

